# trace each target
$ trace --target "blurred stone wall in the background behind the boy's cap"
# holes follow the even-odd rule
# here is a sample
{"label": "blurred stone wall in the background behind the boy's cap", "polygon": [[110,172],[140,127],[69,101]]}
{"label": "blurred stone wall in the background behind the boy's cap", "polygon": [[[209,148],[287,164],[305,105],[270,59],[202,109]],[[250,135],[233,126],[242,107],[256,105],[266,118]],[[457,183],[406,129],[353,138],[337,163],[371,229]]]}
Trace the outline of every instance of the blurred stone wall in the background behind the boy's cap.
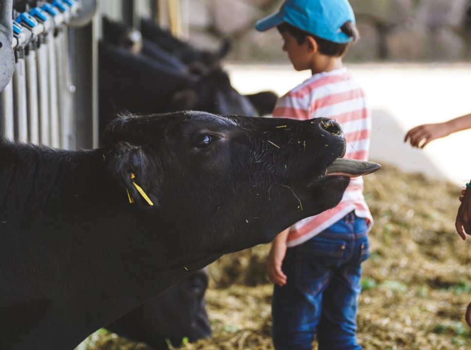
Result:
{"label": "blurred stone wall in the background behind the boy's cap", "polygon": [[[189,40],[216,48],[230,38],[228,57],[238,62],[286,62],[276,30],[259,33],[254,23],[281,0],[183,0]],[[470,61],[471,0],[350,0],[361,40],[350,61]]]}

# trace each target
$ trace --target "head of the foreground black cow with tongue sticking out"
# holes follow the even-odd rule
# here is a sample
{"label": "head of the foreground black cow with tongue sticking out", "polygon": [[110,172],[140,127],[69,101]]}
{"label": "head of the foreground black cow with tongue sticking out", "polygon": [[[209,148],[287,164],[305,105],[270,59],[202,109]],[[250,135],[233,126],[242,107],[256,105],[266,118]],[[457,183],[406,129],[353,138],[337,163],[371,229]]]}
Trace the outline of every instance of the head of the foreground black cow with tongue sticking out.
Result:
{"label": "head of the foreground black cow with tongue sticking out", "polygon": [[[123,204],[147,212],[141,220],[158,218],[156,231],[166,228],[182,260],[270,242],[298,220],[337,205],[351,175],[378,169],[338,161],[344,135],[324,118],[189,111],[122,117],[109,125],[106,144]],[[127,203],[126,191],[135,204]]]}

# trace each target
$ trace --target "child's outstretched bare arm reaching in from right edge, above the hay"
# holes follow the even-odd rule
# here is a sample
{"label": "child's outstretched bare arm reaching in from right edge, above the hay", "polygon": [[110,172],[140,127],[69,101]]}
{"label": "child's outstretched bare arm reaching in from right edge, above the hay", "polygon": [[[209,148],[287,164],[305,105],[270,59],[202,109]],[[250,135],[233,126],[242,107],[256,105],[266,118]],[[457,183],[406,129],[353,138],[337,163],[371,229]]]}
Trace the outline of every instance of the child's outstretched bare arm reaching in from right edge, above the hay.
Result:
{"label": "child's outstretched bare arm reaching in from right edge, above the hay", "polygon": [[424,148],[430,141],[448,136],[456,131],[469,128],[471,128],[471,114],[467,114],[444,123],[416,126],[407,132],[404,142],[407,142],[409,139],[412,146]]}

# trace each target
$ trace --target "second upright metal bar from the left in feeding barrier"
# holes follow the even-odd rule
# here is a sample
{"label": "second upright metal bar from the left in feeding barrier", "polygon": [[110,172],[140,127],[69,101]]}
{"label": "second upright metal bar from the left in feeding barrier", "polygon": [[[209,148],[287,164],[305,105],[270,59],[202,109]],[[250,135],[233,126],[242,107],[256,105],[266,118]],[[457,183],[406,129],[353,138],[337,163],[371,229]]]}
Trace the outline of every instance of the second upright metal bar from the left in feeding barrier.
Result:
{"label": "second upright metal bar from the left in feeding barrier", "polygon": [[13,113],[15,139],[28,142],[28,111],[26,107],[26,72],[24,51],[17,51],[17,62],[13,73]]}

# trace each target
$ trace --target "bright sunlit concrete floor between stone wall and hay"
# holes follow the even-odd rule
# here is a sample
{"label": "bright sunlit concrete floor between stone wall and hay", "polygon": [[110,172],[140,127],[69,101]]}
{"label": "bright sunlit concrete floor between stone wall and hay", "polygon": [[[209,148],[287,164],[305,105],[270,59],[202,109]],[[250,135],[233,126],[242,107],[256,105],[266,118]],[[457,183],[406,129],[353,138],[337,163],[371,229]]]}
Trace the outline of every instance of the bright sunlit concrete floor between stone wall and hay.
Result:
{"label": "bright sunlit concrete floor between stone wall and hay", "polygon": [[[435,140],[423,150],[412,148],[403,139],[416,125],[471,113],[471,64],[346,66],[366,91],[372,109],[371,159],[448,179],[458,187],[470,180],[471,130]],[[241,93],[273,90],[282,95],[310,75],[289,65],[227,65],[226,69]]]}

